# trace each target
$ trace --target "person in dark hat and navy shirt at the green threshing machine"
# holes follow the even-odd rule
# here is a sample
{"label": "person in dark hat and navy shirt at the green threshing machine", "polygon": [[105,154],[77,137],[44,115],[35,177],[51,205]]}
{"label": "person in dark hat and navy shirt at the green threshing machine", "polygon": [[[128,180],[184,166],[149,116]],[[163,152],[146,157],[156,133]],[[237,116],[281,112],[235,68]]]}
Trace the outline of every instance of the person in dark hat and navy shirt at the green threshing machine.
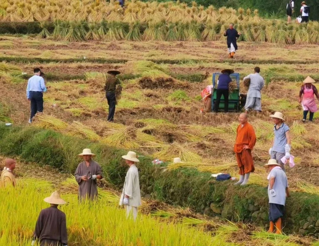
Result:
{"label": "person in dark hat and navy shirt at the green threshing machine", "polygon": [[214,112],[218,112],[219,109],[219,103],[220,103],[220,98],[221,95],[224,96],[225,100],[225,108],[224,111],[225,113],[228,112],[228,97],[229,97],[229,83],[232,82],[232,79],[230,78],[230,74],[234,73],[234,70],[232,69],[224,69],[221,71],[222,74],[219,75],[218,77],[218,85],[217,85],[217,90],[216,90],[216,101],[214,105]]}

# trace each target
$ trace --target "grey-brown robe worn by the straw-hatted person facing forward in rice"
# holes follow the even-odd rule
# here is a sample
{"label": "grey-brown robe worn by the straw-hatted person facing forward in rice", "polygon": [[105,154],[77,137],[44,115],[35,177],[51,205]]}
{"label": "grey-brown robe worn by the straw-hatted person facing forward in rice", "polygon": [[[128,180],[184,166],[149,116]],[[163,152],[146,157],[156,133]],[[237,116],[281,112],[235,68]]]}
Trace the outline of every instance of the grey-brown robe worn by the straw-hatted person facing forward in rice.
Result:
{"label": "grey-brown robe worn by the straw-hatted person facing forward in rice", "polygon": [[87,197],[93,200],[98,195],[98,186],[96,179],[88,181],[83,181],[81,179],[81,176],[86,176],[88,172],[90,172],[91,175],[102,176],[101,167],[97,162],[90,160],[89,167],[86,166],[85,161],[78,164],[77,170],[75,171],[75,179],[79,184],[78,198],[80,201]]}

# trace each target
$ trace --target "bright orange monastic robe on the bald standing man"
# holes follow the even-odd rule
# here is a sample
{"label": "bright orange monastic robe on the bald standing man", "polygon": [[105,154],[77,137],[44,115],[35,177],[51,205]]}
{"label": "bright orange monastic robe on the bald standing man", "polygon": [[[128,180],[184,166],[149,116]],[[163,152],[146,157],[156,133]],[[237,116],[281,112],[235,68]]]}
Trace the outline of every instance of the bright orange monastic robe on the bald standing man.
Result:
{"label": "bright orange monastic robe on the bald standing man", "polygon": [[[246,122],[243,127],[241,124],[237,127],[236,143],[234,145],[234,152],[236,153],[237,164],[239,167],[239,174],[245,175],[255,171],[254,160],[251,155],[256,144],[256,134],[251,124]],[[248,145],[249,149],[243,149],[243,145]]]}

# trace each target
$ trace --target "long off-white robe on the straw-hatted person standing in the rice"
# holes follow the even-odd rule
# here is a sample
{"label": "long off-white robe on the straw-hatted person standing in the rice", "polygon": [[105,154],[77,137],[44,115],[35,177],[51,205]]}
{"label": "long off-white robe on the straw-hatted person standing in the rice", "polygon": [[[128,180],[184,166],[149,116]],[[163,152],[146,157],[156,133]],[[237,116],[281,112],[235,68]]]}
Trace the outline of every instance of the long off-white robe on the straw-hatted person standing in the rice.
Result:
{"label": "long off-white robe on the straw-hatted person standing in the rice", "polygon": [[138,207],[141,205],[141,192],[139,188],[138,170],[133,164],[126,173],[124,187],[120,198],[120,205],[123,205],[124,195],[129,196],[129,206]]}

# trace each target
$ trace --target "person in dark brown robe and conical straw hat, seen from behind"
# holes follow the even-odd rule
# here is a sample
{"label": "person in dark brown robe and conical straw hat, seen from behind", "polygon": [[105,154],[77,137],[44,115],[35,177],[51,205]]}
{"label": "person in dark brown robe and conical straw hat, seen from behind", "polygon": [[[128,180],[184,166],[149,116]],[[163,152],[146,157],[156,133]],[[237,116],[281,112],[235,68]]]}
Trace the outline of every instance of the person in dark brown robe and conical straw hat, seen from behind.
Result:
{"label": "person in dark brown robe and conical straw hat, seen from behind", "polygon": [[57,191],[44,198],[44,201],[49,203],[50,207],[41,210],[35,224],[31,245],[34,245],[37,239],[40,246],[68,245],[65,213],[58,209],[58,205],[66,204],[66,202]]}

